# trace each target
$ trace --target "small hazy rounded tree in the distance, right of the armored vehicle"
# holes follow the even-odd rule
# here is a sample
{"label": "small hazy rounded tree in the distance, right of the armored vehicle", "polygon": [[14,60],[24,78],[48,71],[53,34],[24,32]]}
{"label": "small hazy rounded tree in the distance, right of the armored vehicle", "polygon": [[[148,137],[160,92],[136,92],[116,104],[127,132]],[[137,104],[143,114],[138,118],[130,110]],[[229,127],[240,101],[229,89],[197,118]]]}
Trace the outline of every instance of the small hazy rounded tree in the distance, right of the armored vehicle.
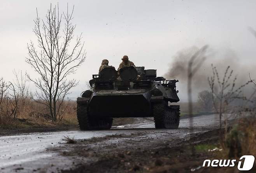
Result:
{"label": "small hazy rounded tree in the distance, right of the armored vehicle", "polygon": [[210,112],[213,108],[212,93],[204,90],[198,93],[198,103],[203,108],[203,111]]}

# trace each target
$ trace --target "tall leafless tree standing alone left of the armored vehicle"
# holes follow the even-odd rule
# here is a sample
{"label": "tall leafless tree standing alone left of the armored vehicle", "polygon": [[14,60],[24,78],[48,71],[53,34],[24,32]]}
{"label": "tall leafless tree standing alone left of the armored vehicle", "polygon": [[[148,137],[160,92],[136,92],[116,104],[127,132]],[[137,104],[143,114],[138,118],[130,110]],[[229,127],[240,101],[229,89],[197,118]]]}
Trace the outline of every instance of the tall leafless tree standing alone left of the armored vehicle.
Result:
{"label": "tall leafless tree standing alone left of the armored vehicle", "polygon": [[[26,73],[37,87],[36,98],[33,99],[49,108],[53,121],[62,113],[60,110],[65,96],[78,84],[75,79],[68,80],[68,76],[75,73],[86,58],[82,36],[74,38],[76,25],[72,23],[73,12],[74,6],[71,13],[67,7],[67,13],[60,14],[58,5],[51,5],[46,20],[41,20],[37,12],[33,32],[37,36],[38,47],[32,41],[27,45],[26,62],[40,76],[32,78]],[[65,21],[63,29],[62,20]]]}

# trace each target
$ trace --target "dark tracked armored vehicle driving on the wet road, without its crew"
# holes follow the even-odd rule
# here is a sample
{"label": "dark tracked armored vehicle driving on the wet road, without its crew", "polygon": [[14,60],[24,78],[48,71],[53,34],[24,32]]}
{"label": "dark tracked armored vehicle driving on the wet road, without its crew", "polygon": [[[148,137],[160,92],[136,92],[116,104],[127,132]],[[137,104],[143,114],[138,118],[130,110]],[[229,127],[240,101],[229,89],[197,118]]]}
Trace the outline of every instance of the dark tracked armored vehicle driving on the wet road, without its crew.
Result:
{"label": "dark tracked armored vehicle driving on the wet road, without its crew", "polygon": [[122,68],[119,76],[114,67],[104,68],[77,98],[80,129],[110,129],[119,117],[154,117],[156,128],[178,128],[180,107],[171,104],[179,101],[176,82],[144,67]]}

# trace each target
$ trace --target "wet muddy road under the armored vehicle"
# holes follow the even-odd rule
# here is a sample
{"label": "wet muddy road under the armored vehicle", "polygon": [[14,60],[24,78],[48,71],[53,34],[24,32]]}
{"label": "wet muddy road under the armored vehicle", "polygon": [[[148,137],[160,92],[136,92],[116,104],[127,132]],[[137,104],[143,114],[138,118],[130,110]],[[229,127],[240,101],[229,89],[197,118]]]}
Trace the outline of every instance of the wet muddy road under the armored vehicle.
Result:
{"label": "wet muddy road under the armored vehicle", "polygon": [[[0,136],[0,172],[70,172],[79,165],[98,160],[96,156],[85,157],[81,154],[79,149],[85,145],[86,149],[99,151],[113,147],[117,150],[129,147],[140,149],[166,142],[177,143],[188,138],[189,121],[189,118],[181,119],[178,129],[155,129],[153,122],[146,121],[102,131],[58,131]],[[218,124],[217,115],[194,117],[193,133],[216,129]],[[85,144],[67,144],[63,141],[64,136],[82,140]]]}

